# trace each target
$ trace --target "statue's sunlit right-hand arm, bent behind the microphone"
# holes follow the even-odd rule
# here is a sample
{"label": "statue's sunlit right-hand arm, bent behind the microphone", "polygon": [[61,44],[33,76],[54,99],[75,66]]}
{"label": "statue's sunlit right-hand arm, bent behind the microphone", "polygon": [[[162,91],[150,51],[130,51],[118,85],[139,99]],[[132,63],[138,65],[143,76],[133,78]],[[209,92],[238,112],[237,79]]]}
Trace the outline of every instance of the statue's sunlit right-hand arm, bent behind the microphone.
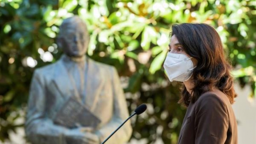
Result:
{"label": "statue's sunlit right-hand arm, bent behind the microphone", "polygon": [[[96,134],[100,137],[100,141],[105,140],[108,135],[113,132],[120,124],[128,118],[128,109],[124,96],[123,89],[120,84],[120,79],[115,68],[112,68],[113,95],[114,95],[114,109],[111,121],[103,126]],[[113,136],[108,140],[111,144],[122,144],[127,142],[132,134],[131,122],[127,121]]]}

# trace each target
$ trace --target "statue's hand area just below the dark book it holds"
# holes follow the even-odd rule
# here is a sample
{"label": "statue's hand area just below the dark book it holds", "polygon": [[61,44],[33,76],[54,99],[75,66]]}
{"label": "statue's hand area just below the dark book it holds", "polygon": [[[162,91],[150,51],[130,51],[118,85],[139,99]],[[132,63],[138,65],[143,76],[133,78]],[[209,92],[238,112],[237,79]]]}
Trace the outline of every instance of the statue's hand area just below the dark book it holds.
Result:
{"label": "statue's hand area just below the dark book it holds", "polygon": [[100,144],[97,135],[91,132],[81,132],[80,129],[71,129],[64,133],[67,144]]}

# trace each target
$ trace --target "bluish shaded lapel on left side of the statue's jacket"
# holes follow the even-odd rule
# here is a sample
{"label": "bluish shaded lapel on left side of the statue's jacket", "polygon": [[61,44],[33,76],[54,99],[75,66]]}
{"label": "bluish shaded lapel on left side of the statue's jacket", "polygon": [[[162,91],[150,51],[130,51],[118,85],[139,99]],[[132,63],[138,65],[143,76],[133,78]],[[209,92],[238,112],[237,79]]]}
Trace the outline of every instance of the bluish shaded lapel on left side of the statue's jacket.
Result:
{"label": "bluish shaded lapel on left side of the statue's jacket", "polygon": [[62,60],[59,60],[58,64],[56,64],[53,83],[63,98],[74,94],[74,88],[69,79],[67,68],[65,68]]}

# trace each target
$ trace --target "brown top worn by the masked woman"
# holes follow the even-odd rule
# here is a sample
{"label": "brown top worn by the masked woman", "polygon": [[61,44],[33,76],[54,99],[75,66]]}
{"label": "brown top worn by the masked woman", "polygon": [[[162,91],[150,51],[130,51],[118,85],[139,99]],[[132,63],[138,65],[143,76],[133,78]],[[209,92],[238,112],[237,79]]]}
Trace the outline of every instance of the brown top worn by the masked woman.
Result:
{"label": "brown top worn by the masked woman", "polygon": [[206,92],[189,104],[178,144],[237,144],[236,117],[224,93]]}

